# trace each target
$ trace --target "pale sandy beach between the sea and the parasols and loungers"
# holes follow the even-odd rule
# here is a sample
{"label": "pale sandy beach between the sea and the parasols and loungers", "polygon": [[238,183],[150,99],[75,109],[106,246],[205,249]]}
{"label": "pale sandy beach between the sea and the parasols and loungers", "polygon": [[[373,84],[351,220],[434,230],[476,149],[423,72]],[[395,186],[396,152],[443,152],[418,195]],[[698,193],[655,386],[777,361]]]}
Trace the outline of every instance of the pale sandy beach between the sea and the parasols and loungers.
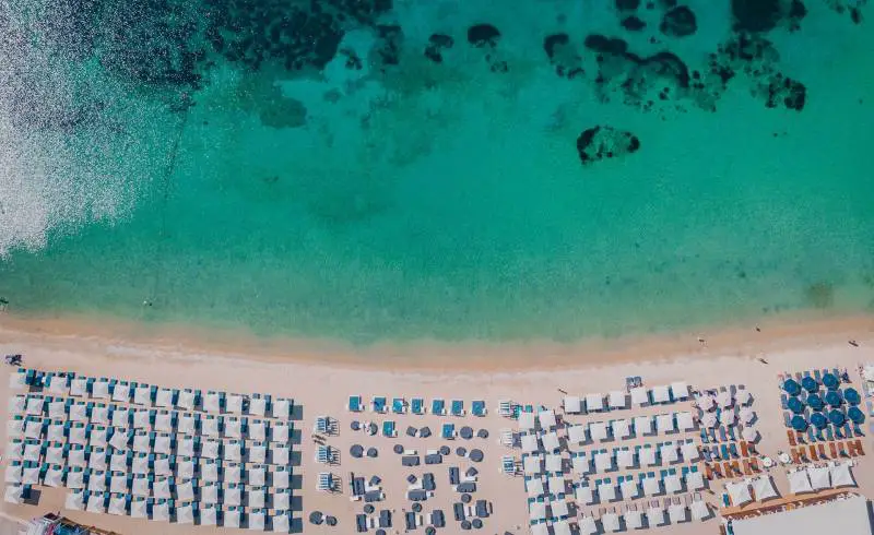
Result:
{"label": "pale sandy beach between the sea and the parasols and loungers", "polygon": [[[78,329],[78,332],[76,332]],[[702,338],[701,340],[699,340]],[[852,341],[854,345],[848,343]],[[499,400],[555,408],[560,414],[563,391],[572,394],[606,393],[625,389],[625,378],[639,376],[646,385],[670,384],[686,381],[692,390],[718,389],[720,385],[742,384],[751,392],[758,416],[757,429],[760,440],[757,450],[761,455],[776,457],[778,451],[787,451],[786,430],[781,418],[778,374],[813,368],[847,368],[852,381],[861,378],[858,366],[874,361],[874,320],[872,318],[818,319],[782,324],[737,326],[723,332],[670,335],[651,340],[600,341],[592,345],[559,346],[554,344],[530,344],[520,346],[488,347],[464,346],[454,350],[442,345],[421,346],[404,352],[404,346],[393,348],[368,347],[357,354],[345,354],[336,347],[318,345],[306,354],[303,347],[284,347],[272,342],[252,344],[251,340],[237,340],[236,345],[225,345],[223,337],[211,341],[197,336],[173,337],[168,333],[160,336],[118,330],[115,333],[106,324],[104,329],[88,331],[83,324],[61,321],[21,321],[9,317],[0,319],[0,347],[4,354],[20,353],[25,356],[25,366],[46,371],[73,371],[92,377],[113,377],[123,380],[147,382],[167,388],[196,388],[225,390],[237,393],[269,393],[293,397],[303,406],[299,449],[302,452],[303,487],[296,490],[300,497],[299,515],[305,532],[314,526],[306,523],[310,511],[319,510],[336,515],[340,526],[335,533],[352,533],[354,518],[361,512],[361,502],[350,501],[347,476],[350,472],[369,478],[380,475],[387,501],[380,503],[395,510],[395,527],[402,528],[402,510],[409,506],[404,499],[409,468],[402,468],[392,445],[425,450],[439,448],[439,429],[445,421],[457,426],[483,428],[489,432],[487,439],[461,441],[457,445],[480,448],[485,460],[477,466],[479,491],[475,498],[492,501],[494,514],[487,520],[484,533],[529,533],[525,489],[521,477],[500,474],[503,455],[519,455],[519,450],[497,443],[501,429],[516,429],[516,423],[497,414]],[[386,358],[375,358],[385,349]],[[470,358],[458,358],[466,350]],[[423,358],[430,355],[430,358]],[[403,355],[409,355],[404,357]],[[11,371],[12,369],[9,368]],[[0,381],[0,397],[10,392],[5,374]],[[365,412],[351,415],[346,411],[350,395],[362,395],[366,401],[385,395],[389,402],[394,396],[410,400],[414,396],[426,401],[442,397],[447,401],[465,401],[470,411],[473,400],[484,400],[488,415],[483,418],[466,416],[452,419],[448,416],[375,415]],[[669,411],[690,409],[690,402],[666,407]],[[629,409],[622,417],[638,414],[654,414],[661,407]],[[7,408],[4,407],[5,412]],[[312,424],[317,416],[336,418],[339,435],[328,437],[327,442],[340,452],[339,466],[326,468],[315,462],[316,443]],[[584,424],[618,417],[616,414],[565,415],[567,423]],[[388,439],[379,435],[366,437],[350,430],[352,419],[397,421],[399,438]],[[435,436],[411,438],[404,436],[409,426],[428,426]],[[867,424],[865,424],[865,427]],[[5,433],[5,429],[3,430]],[[692,437],[693,435],[690,435]],[[3,437],[5,441],[5,437]],[[865,451],[871,450],[870,437],[863,439]],[[377,459],[352,459],[350,445],[361,443],[376,447]],[[609,447],[605,444],[604,447]],[[5,464],[5,463],[3,463]],[[453,492],[447,490],[446,467],[460,466],[462,472],[469,461],[454,454],[435,467],[420,466],[415,473],[432,471],[438,480],[436,497],[425,504],[426,510],[440,508],[451,516]],[[329,495],[316,490],[316,474],[330,469],[343,482],[343,492]],[[788,492],[783,468],[775,468],[771,476],[778,490]],[[866,456],[857,460],[853,476],[861,494],[874,491],[874,466]],[[717,508],[722,494],[721,480],[711,482],[705,494],[708,502]],[[49,511],[58,511],[63,504],[63,492],[50,489],[43,492],[40,503],[11,506],[3,503],[2,511],[17,518],[29,518]],[[114,530],[118,533],[142,533],[145,521],[107,514],[64,511],[68,516],[86,524]],[[448,519],[451,520],[451,519]],[[150,522],[150,533],[229,533],[227,530],[174,525]],[[324,533],[331,533],[326,526]],[[687,522],[671,530],[671,533],[717,533],[718,520]],[[458,524],[447,522],[442,533],[457,533]],[[319,532],[321,533],[321,532]]]}

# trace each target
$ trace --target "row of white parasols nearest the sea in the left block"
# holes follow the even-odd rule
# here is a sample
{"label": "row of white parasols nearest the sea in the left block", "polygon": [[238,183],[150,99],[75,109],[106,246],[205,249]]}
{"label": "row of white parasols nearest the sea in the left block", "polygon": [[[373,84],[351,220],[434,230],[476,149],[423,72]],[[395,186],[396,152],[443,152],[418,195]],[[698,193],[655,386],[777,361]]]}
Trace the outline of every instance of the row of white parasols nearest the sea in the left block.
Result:
{"label": "row of white parasols nearest the sea in the left block", "polygon": [[239,414],[291,419],[294,401],[267,394],[235,394],[194,389],[166,389],[146,383],[93,378],[73,373],[45,373],[20,369],[12,373],[10,384],[17,390],[37,389],[49,394],[113,401],[143,407],[213,414]]}

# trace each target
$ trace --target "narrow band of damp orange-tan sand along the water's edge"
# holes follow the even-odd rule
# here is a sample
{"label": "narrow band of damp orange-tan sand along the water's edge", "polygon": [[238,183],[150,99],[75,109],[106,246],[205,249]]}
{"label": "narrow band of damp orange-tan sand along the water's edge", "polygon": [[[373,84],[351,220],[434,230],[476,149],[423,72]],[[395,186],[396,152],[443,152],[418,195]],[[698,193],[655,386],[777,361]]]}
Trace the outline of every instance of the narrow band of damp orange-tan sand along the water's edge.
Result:
{"label": "narrow band of damp orange-tan sand along the water's edge", "polygon": [[[700,342],[702,338],[704,342]],[[264,364],[328,368],[439,371],[449,373],[591,369],[623,364],[658,364],[701,356],[757,357],[770,352],[874,341],[874,314],[794,313],[768,321],[710,326],[697,332],[554,341],[383,342],[367,346],[327,340],[263,337],[240,330],[156,325],[135,321],[64,316],[21,318],[0,313],[0,343],[46,344],[63,348],[71,341],[119,354],[209,357]]]}

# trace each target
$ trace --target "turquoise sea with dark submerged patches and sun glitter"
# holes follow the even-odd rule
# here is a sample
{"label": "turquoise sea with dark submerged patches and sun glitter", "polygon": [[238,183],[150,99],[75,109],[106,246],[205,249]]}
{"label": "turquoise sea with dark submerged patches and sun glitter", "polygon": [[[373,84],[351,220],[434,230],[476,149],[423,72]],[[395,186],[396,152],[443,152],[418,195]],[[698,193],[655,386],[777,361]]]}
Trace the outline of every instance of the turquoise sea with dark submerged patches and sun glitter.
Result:
{"label": "turquoise sea with dark submerged patches and sun glitter", "polygon": [[0,0],[0,297],[355,343],[871,310],[870,8]]}

